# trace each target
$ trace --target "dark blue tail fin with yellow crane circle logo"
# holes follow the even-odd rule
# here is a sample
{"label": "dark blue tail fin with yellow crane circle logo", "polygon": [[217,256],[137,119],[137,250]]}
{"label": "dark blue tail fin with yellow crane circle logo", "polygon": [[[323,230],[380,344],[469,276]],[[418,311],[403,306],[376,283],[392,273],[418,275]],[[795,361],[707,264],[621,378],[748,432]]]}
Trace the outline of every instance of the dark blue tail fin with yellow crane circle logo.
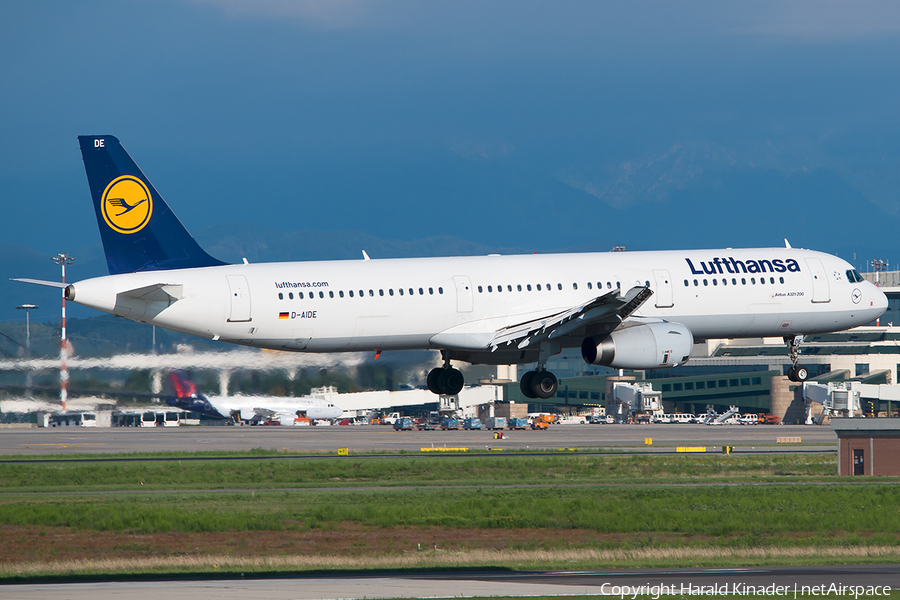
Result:
{"label": "dark blue tail fin with yellow crane circle logo", "polygon": [[225,264],[194,241],[119,140],[85,135],[78,143],[110,275]]}

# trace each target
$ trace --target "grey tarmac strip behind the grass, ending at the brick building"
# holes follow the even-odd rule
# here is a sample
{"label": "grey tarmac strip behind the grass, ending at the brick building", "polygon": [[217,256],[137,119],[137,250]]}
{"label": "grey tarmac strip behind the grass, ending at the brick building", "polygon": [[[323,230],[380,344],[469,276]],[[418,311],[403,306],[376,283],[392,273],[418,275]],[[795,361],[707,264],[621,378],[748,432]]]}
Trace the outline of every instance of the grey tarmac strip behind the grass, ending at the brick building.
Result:
{"label": "grey tarmac strip behind the grass, ending at the brick building", "polygon": [[[778,438],[802,444],[780,444]],[[652,444],[646,444],[649,438]],[[387,425],[348,427],[152,427],[0,429],[0,456],[107,454],[127,452],[243,451],[285,453],[335,451],[420,452],[422,448],[559,449],[674,452],[704,446],[734,452],[835,451],[837,435],[816,425],[557,425],[547,431],[394,431]]]}

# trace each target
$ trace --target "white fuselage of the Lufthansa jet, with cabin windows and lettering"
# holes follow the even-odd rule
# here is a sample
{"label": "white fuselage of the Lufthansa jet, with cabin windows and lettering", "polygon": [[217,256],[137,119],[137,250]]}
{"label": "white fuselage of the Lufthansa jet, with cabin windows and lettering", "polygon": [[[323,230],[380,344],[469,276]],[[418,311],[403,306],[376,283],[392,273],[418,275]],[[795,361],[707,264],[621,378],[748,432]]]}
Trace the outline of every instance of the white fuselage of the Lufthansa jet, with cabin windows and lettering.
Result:
{"label": "white fuselage of the Lufthansa jet, with cabin windows and lettering", "polygon": [[[135,321],[260,348],[439,348],[491,362],[497,330],[634,286],[654,294],[632,318],[678,322],[695,339],[863,325],[887,299],[852,270],[794,248],[344,260],[113,275],[75,283],[72,296]],[[124,294],[158,284],[171,286],[167,301]],[[496,362],[533,360],[498,352]]]}

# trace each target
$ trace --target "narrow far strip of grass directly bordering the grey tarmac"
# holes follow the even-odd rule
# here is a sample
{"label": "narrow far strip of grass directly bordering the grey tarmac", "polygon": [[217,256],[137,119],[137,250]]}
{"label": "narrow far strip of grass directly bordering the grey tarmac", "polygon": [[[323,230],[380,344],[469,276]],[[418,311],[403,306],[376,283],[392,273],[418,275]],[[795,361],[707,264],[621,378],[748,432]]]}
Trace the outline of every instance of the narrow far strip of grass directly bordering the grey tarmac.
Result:
{"label": "narrow far strip of grass directly bordering the grey tarmac", "polygon": [[[187,458],[187,457],[186,457]],[[688,481],[838,481],[834,455],[418,456],[12,462],[0,490],[296,488]]]}

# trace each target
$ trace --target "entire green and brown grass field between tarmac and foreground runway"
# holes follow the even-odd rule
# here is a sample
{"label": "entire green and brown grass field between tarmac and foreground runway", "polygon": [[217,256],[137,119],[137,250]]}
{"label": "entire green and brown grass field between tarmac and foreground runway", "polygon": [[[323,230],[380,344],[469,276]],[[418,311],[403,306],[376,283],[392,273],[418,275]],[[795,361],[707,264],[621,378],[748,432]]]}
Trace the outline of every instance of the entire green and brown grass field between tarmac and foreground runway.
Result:
{"label": "entire green and brown grass field between tarmac and foreground runway", "polygon": [[188,458],[0,464],[0,578],[900,559],[833,455]]}

